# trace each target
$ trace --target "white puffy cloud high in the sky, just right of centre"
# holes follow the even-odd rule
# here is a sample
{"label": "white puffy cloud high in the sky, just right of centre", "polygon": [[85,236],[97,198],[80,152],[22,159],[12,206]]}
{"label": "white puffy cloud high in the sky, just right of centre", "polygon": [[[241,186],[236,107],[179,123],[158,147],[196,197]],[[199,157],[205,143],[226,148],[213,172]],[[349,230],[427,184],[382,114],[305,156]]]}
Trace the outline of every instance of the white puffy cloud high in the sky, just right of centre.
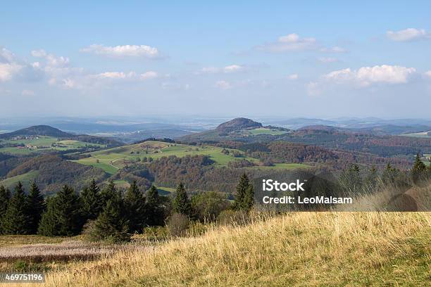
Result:
{"label": "white puffy cloud high in the sky, just right of centre", "polygon": [[279,37],[277,42],[258,46],[257,49],[271,53],[281,53],[313,50],[317,49],[317,47],[318,44],[315,38],[301,38],[298,34],[292,33]]}

